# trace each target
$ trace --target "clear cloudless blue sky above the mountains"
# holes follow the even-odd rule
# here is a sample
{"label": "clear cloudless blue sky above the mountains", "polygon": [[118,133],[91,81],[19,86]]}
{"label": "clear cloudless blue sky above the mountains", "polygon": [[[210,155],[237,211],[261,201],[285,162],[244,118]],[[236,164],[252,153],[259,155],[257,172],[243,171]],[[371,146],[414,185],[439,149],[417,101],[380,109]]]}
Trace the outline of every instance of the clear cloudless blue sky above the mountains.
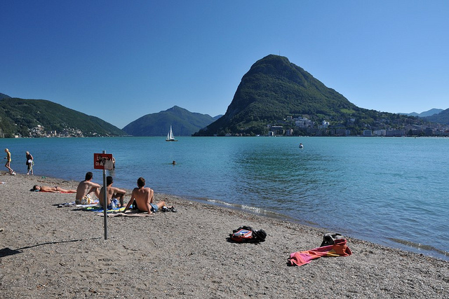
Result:
{"label": "clear cloudless blue sky above the mountains", "polygon": [[449,1],[0,1],[0,92],[117,127],[224,114],[251,65],[288,57],[366,109],[449,108]]}

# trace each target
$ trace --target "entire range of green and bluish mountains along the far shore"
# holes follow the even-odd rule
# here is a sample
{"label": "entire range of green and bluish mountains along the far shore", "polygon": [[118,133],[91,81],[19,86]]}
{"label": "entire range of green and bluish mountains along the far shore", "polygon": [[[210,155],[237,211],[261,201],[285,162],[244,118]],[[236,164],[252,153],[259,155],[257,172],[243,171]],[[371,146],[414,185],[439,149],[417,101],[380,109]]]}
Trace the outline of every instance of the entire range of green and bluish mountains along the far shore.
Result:
{"label": "entire range of green and bluish mountains along the far shore", "polygon": [[[299,119],[314,125],[300,127],[295,123]],[[0,137],[43,137],[48,132],[51,136],[166,136],[170,125],[177,137],[253,136],[267,134],[272,127],[295,134],[326,135],[327,130],[333,130],[332,134],[337,130],[363,134],[363,130],[406,126],[424,130],[429,122],[449,125],[449,109],[401,114],[359,108],[279,55],[268,55],[250,67],[224,116],[211,117],[173,106],[142,116],[123,130],[44,99],[19,99],[0,93]]]}

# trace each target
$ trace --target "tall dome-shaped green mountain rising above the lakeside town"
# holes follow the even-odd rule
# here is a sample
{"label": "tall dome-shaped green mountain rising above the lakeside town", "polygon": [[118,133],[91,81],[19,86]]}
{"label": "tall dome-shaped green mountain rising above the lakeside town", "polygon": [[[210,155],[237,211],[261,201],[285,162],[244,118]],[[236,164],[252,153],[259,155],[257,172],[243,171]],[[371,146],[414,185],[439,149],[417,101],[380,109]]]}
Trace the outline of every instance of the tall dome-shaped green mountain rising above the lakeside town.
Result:
{"label": "tall dome-shaped green mountain rising above the lakeside town", "polygon": [[351,134],[360,134],[367,126],[382,127],[387,120],[390,125],[419,122],[417,118],[358,108],[287,57],[268,55],[243,76],[225,116],[195,136],[267,134],[267,125],[285,124],[283,120],[289,116],[316,124],[326,121],[333,128],[351,128]]}

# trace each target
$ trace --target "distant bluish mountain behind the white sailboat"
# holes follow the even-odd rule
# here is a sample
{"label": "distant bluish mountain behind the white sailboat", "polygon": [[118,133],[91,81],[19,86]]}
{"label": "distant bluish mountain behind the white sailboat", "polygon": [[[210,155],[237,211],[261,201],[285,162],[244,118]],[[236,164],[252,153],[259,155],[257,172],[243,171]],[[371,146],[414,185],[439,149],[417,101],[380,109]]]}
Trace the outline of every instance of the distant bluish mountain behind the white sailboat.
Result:
{"label": "distant bluish mountain behind the white sailboat", "polygon": [[175,136],[191,136],[203,127],[206,127],[216,118],[207,114],[192,113],[178,106],[147,114],[123,127],[123,131],[133,136],[166,136],[173,127]]}

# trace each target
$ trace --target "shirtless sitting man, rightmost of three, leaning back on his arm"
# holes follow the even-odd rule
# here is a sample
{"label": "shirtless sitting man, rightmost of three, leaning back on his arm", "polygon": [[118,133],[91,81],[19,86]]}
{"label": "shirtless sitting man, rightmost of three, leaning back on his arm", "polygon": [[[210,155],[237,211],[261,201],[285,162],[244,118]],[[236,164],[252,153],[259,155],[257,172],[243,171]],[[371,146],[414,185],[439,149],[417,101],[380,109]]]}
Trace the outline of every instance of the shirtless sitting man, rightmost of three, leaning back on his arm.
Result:
{"label": "shirtless sitting man, rightmost of three, leaning back on his arm", "polygon": [[176,211],[175,207],[166,207],[166,202],[158,202],[157,204],[154,204],[154,191],[151,188],[145,188],[145,179],[140,177],[138,179],[138,188],[134,188],[133,193],[131,193],[131,199],[129,200],[128,204],[126,205],[125,210],[123,213],[129,209],[130,205],[135,203],[138,206],[139,211],[146,211],[148,214],[152,214],[156,211],[159,211],[159,209],[165,208],[166,211],[170,209],[171,211]]}

